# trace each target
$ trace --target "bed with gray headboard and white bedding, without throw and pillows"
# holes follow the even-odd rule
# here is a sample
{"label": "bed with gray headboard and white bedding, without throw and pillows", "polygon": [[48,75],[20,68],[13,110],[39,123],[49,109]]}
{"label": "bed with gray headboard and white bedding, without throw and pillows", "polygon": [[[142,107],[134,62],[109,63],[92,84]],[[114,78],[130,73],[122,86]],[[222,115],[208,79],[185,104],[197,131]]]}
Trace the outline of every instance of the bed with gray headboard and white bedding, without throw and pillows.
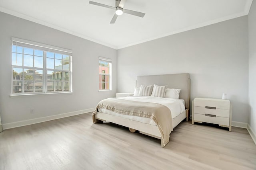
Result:
{"label": "bed with gray headboard and white bedding, without throw and pillows", "polygon": [[[190,78],[188,73],[138,76],[137,82],[138,86],[158,84],[160,86],[167,85],[167,88],[181,88],[182,90],[180,92],[180,99],[177,100],[151,96],[128,96],[121,99],[158,103],[168,107],[172,113],[173,128],[176,127],[185,118],[188,121],[188,117],[190,116]],[[129,129],[138,130],[140,133],[145,135],[161,139],[161,133],[158,127],[150,118],[122,115],[110,110],[98,109],[98,112],[95,114],[95,119],[123,125],[125,127],[129,127]],[[161,146],[165,146],[163,141],[161,142]]]}

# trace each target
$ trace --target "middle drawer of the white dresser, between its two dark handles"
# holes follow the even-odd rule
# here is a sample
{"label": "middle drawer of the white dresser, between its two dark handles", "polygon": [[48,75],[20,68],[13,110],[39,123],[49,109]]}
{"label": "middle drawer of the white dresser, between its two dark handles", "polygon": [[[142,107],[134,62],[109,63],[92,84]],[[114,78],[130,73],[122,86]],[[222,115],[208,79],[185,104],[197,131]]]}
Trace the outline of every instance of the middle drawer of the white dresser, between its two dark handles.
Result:
{"label": "middle drawer of the white dresser, between its two dark handles", "polygon": [[205,107],[199,107],[199,106],[194,106],[194,113],[198,114],[212,114],[216,115],[218,117],[228,117],[229,118],[229,110],[227,109],[207,109]]}

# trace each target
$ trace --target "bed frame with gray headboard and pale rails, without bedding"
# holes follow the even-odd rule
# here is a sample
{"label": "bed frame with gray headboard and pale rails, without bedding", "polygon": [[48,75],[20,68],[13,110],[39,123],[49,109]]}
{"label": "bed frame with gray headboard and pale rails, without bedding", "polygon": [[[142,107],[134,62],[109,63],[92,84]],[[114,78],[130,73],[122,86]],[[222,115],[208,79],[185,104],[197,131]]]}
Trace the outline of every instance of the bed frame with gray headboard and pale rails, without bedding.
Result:
{"label": "bed frame with gray headboard and pale rails, without bedding", "polygon": [[[186,110],[172,119],[172,127],[176,127],[182,120],[186,118],[189,120],[189,108],[190,108],[190,77],[188,73],[181,74],[163,74],[163,75],[152,75],[152,76],[137,76],[137,86],[140,85],[153,85],[166,86],[167,88],[181,88],[180,99],[185,101]],[[157,126],[117,117],[114,115],[97,112],[95,118],[100,121],[110,121],[118,125],[129,127],[130,131],[136,129],[142,134],[161,139],[161,133]],[[163,141],[161,146],[164,147]]]}

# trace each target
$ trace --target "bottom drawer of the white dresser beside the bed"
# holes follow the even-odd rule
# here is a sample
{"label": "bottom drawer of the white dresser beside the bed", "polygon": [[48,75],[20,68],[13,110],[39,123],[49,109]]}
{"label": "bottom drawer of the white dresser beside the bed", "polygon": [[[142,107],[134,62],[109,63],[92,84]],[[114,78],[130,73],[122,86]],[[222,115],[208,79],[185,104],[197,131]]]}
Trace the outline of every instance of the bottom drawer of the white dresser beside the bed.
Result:
{"label": "bottom drawer of the white dresser beside the bed", "polygon": [[226,125],[229,126],[229,118],[227,117],[209,117],[202,114],[196,114],[194,113],[194,121],[200,121],[200,122],[207,122],[207,123],[214,123],[218,125]]}

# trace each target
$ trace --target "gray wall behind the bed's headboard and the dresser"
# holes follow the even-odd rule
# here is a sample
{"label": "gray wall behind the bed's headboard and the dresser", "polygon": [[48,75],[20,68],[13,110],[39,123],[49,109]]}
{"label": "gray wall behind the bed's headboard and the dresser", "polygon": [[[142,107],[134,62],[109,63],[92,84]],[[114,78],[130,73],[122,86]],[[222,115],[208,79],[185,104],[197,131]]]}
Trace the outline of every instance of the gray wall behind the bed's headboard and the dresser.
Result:
{"label": "gray wall behind the bed's headboard and the dresser", "polygon": [[118,92],[133,92],[136,76],[190,73],[191,99],[222,98],[232,121],[248,123],[248,17],[118,50]]}

